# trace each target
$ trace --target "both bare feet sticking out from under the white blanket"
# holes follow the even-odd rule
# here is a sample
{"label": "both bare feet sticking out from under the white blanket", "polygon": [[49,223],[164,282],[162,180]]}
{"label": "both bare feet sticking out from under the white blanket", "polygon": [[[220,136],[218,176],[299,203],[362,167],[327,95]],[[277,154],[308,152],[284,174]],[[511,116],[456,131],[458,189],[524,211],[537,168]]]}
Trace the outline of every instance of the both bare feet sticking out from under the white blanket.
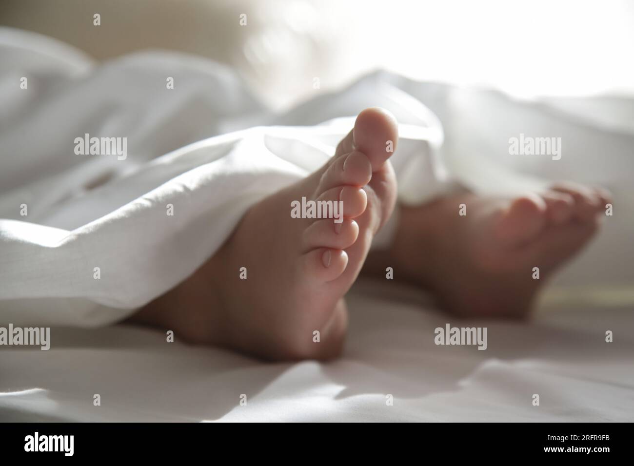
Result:
{"label": "both bare feet sticking out from under the white blanket", "polygon": [[[399,206],[391,249],[368,257],[396,203],[386,141],[396,150],[394,117],[380,108],[359,113],[327,164],[251,207],[213,257],[130,321],[263,359],[330,359],[346,335],[344,295],[362,268],[384,277],[387,266],[450,313],[522,317],[543,280],[592,237],[610,202],[603,190],[571,183],[513,199],[464,191]],[[341,198],[343,223],[292,218],[291,202],[302,197]],[[467,216],[458,215],[460,204]],[[540,280],[531,278],[535,266]]]}

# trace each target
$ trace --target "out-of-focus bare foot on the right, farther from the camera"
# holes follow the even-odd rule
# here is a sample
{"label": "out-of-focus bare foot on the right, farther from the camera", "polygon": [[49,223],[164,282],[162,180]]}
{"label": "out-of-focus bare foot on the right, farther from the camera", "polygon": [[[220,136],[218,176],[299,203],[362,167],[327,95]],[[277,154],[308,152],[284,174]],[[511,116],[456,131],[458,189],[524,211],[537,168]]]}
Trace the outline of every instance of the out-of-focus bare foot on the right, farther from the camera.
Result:
{"label": "out-of-focus bare foot on the right, farther from the camera", "polygon": [[392,266],[395,278],[424,285],[461,316],[524,316],[544,280],[595,233],[608,202],[603,190],[561,184],[514,200],[461,193],[401,207],[392,250],[371,255],[368,267]]}

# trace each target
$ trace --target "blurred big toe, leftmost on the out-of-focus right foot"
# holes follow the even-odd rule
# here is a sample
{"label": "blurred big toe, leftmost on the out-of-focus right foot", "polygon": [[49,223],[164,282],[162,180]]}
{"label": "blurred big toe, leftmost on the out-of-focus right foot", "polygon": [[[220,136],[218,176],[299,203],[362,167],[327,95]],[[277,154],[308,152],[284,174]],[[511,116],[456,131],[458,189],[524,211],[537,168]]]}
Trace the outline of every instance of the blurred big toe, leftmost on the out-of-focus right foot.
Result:
{"label": "blurred big toe, leftmost on the out-of-focus right foot", "polygon": [[496,229],[498,239],[512,245],[533,240],[545,227],[546,210],[545,200],[537,195],[515,199],[501,214]]}

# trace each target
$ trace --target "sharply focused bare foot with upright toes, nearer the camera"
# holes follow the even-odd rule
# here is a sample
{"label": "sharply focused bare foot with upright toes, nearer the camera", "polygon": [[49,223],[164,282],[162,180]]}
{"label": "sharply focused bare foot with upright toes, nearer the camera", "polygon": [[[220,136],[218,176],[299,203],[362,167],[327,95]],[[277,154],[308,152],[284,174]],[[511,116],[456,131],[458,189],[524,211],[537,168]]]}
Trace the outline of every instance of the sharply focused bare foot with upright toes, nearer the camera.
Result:
{"label": "sharply focused bare foot with upright toes, nearer the camera", "polygon": [[[396,201],[385,141],[397,139],[389,113],[361,112],[335,157],[254,205],[209,261],[133,320],[268,359],[336,356],[347,327],[343,296]],[[291,202],[302,197],[343,200],[344,221],[292,218]]]}

